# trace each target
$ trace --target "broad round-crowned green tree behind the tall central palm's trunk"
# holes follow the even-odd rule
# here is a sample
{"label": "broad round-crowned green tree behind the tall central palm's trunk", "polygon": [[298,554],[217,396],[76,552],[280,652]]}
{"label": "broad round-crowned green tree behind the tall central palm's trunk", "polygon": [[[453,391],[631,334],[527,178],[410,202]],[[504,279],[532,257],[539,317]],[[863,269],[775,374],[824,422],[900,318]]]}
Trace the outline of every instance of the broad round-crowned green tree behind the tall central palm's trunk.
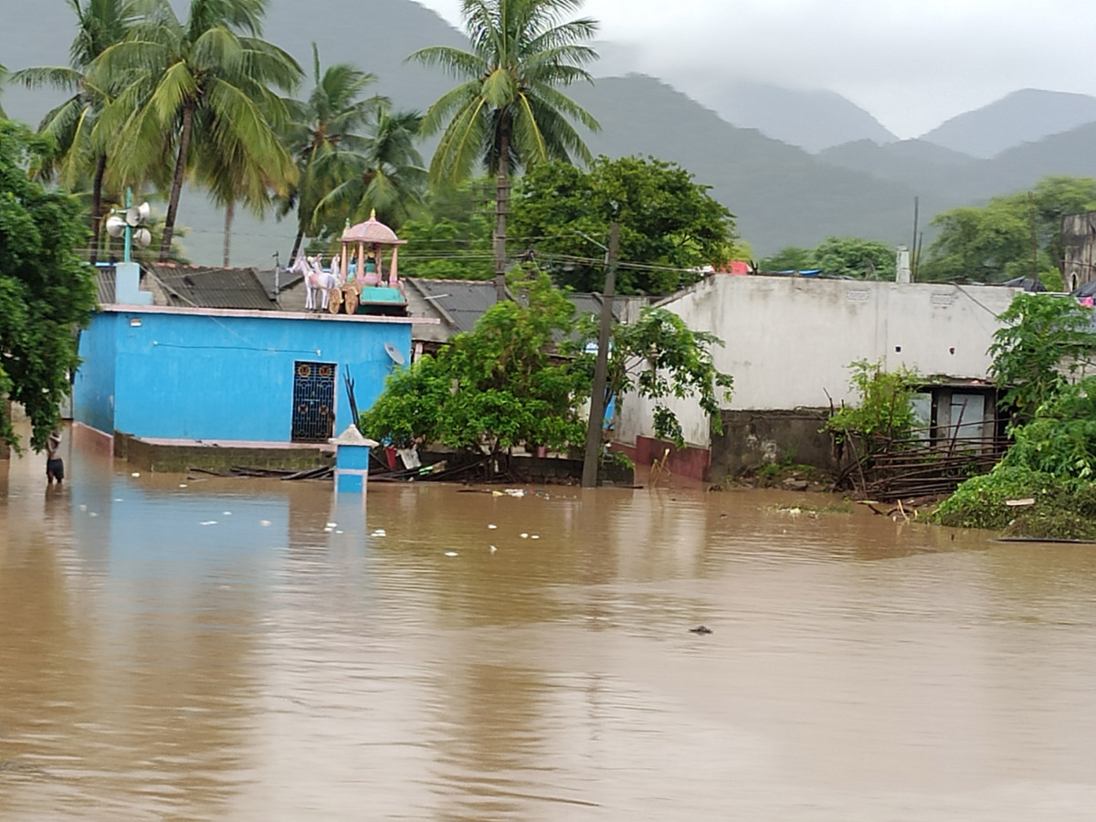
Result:
{"label": "broad round-crowned green tree behind the tall central palm's trunk", "polygon": [[604,286],[609,224],[620,224],[617,289],[672,294],[700,278],[703,265],[734,254],[729,210],[676,163],[654,158],[598,157],[589,171],[563,162],[537,165],[522,179],[513,229],[529,238],[560,285]]}

